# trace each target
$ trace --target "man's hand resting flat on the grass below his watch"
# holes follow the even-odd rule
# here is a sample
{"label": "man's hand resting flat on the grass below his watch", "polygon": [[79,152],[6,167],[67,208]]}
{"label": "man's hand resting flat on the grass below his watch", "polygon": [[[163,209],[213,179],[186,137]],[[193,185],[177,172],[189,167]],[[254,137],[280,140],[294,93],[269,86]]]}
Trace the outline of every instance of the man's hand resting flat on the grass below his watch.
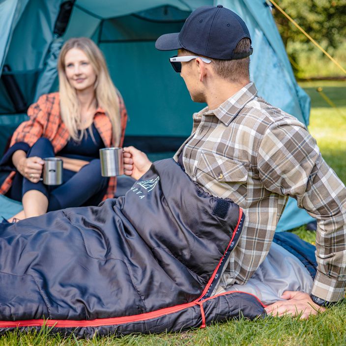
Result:
{"label": "man's hand resting flat on the grass below his watch", "polygon": [[301,314],[300,318],[306,319],[311,315],[324,312],[325,308],[315,304],[308,293],[299,291],[286,291],[279,300],[265,308],[268,315],[280,317],[291,315],[293,317]]}

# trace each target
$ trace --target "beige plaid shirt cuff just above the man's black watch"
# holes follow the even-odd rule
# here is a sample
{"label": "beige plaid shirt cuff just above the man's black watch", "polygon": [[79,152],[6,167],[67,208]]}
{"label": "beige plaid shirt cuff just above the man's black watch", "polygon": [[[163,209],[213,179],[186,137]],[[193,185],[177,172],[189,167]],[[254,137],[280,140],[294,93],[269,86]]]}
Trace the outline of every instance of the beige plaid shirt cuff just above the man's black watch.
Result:
{"label": "beige plaid shirt cuff just above the man's black watch", "polygon": [[317,271],[311,293],[327,302],[336,302],[345,297],[345,283]]}

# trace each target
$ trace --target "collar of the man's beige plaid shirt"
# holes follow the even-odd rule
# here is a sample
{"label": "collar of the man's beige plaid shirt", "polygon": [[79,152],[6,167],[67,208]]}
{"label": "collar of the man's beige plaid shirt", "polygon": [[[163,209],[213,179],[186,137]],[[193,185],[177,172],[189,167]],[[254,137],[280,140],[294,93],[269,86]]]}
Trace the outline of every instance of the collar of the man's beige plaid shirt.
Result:
{"label": "collar of the man's beige plaid shirt", "polygon": [[244,108],[244,106],[257,95],[257,88],[254,82],[250,82],[242,87],[229,99],[223,102],[218,108],[209,110],[208,107],[195,114],[194,117],[202,115],[215,115],[220,121],[228,126],[235,116]]}

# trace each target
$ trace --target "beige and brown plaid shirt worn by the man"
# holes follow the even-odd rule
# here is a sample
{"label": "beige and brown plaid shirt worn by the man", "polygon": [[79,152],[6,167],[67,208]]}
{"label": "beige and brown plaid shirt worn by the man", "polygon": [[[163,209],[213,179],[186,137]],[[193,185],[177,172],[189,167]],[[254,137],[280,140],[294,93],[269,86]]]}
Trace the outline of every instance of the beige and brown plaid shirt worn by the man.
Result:
{"label": "beige and brown plaid shirt worn by the man", "polygon": [[219,108],[193,115],[183,149],[186,173],[212,195],[230,198],[246,222],[221,287],[244,284],[268,254],[288,196],[317,219],[317,276],[312,293],[344,296],[346,188],[295,117],[257,96],[253,83]]}

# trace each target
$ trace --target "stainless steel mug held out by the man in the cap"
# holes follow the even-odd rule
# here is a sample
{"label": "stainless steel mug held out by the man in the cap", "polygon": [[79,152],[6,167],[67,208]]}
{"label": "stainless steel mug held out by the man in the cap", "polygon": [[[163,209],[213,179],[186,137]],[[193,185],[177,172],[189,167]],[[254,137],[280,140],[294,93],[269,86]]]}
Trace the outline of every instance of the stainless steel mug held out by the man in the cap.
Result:
{"label": "stainless steel mug held out by the man in the cap", "polygon": [[124,174],[122,148],[103,148],[99,151],[102,176],[115,176]]}

